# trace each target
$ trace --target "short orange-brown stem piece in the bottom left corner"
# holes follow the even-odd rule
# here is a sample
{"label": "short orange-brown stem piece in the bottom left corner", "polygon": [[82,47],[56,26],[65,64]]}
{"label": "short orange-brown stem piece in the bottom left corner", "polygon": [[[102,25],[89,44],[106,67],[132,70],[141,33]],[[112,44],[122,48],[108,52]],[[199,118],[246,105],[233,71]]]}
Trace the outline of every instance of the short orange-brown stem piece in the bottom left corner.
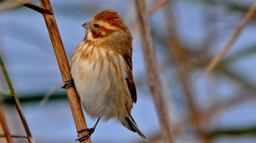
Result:
{"label": "short orange-brown stem piece in the bottom left corner", "polygon": [[12,136],[10,135],[10,130],[8,128],[7,122],[4,118],[4,111],[2,110],[2,105],[0,104],[0,123],[2,130],[4,131],[5,139],[8,143],[12,143]]}

